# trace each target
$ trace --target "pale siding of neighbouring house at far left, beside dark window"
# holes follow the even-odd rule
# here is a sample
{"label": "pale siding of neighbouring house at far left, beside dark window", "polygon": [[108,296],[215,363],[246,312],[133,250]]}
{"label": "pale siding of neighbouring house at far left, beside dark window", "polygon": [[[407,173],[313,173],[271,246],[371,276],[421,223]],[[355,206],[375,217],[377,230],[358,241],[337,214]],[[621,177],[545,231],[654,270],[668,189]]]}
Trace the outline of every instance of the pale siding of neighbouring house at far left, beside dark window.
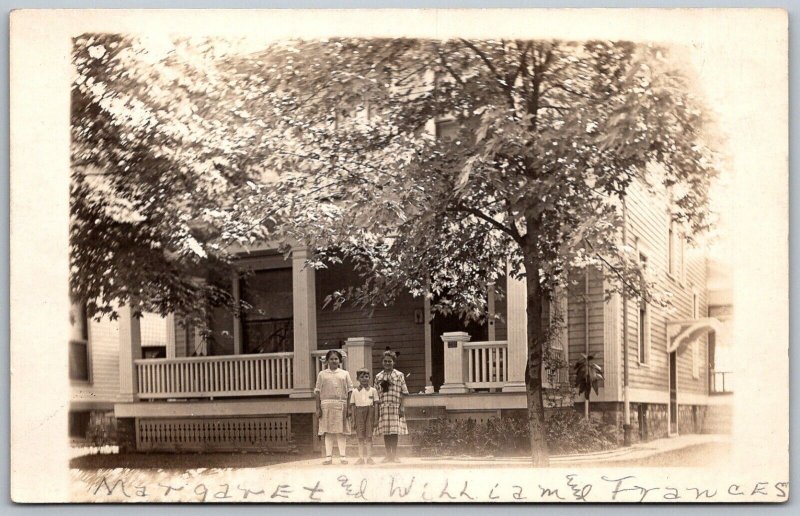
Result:
{"label": "pale siding of neighbouring house at far left, beside dark window", "polygon": [[119,324],[103,319],[89,321],[91,383],[73,382],[72,400],[112,403],[119,396]]}

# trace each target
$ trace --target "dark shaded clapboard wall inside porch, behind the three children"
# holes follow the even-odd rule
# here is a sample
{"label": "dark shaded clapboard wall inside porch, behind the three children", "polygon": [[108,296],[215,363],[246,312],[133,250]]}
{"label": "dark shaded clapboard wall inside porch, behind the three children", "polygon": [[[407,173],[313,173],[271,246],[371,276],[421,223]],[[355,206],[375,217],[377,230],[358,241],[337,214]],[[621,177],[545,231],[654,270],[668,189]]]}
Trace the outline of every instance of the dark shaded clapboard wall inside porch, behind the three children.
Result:
{"label": "dark shaded clapboard wall inside porch, behind the three children", "polygon": [[372,313],[360,308],[343,306],[338,310],[323,308],[325,297],[348,285],[357,285],[358,276],[345,265],[317,271],[317,346],[319,349],[339,348],[349,337],[367,337],[374,341],[373,374],[381,369],[381,357],[386,347],[399,352],[397,369],[410,375],[409,392],[425,387],[425,326],[415,322],[415,310],[423,310],[421,298],[399,296],[387,307]]}

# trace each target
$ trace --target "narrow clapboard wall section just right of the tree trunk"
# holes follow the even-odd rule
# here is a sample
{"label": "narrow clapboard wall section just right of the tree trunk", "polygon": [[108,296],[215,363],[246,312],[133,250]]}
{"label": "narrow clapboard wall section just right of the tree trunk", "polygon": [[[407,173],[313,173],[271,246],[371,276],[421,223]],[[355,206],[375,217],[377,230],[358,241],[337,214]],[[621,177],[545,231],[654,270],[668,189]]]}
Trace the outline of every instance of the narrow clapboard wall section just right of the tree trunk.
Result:
{"label": "narrow clapboard wall section just right of the tree trunk", "polygon": [[570,276],[568,288],[568,336],[570,381],[574,380],[572,365],[586,353],[586,301],[589,304],[589,354],[603,368],[604,364],[604,310],[603,278],[599,271],[589,272],[589,294],[586,295],[586,275],[583,272]]}

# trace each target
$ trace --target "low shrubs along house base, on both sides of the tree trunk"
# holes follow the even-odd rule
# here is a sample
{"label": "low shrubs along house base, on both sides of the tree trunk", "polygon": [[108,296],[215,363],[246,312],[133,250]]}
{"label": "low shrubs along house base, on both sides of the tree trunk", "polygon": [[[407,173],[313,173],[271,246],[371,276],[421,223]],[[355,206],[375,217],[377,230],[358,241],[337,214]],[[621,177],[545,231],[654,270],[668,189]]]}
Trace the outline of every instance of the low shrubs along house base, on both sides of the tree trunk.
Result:
{"label": "low shrubs along house base, on both sides of the tree trunk", "polygon": [[[547,444],[556,455],[606,450],[617,446],[613,428],[587,421],[574,410],[559,410],[547,418]],[[432,420],[412,434],[421,455],[526,455],[530,431],[524,417]]]}

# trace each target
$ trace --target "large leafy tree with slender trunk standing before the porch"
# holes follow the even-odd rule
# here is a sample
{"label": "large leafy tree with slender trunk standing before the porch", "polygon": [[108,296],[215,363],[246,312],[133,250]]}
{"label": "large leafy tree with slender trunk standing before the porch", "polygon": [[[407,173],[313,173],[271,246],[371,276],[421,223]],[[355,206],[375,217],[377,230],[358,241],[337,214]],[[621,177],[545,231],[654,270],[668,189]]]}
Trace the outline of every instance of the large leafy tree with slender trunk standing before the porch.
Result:
{"label": "large leafy tree with slender trunk standing before the porch", "polygon": [[[570,270],[597,268],[651,296],[621,245],[634,182],[668,187],[676,221],[709,221],[715,174],[690,75],[665,48],[629,42],[296,42],[231,62],[247,110],[270,120],[258,152],[281,181],[273,236],[312,264],[346,256],[363,285],[480,318],[488,284],[527,284],[526,385],[535,465],[546,465],[543,304]],[[258,202],[256,201],[257,205]]]}

